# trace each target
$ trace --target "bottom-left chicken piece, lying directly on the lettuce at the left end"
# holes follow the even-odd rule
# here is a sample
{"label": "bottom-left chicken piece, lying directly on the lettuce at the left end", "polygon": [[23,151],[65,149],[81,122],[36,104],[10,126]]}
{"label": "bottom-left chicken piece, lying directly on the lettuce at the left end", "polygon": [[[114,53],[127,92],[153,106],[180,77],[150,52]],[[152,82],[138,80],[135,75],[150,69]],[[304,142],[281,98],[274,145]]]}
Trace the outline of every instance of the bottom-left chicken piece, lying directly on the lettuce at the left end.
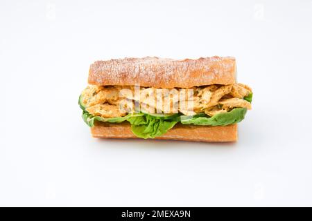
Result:
{"label": "bottom-left chicken piece, lying directly on the lettuce at the left end", "polygon": [[110,104],[96,104],[86,108],[86,111],[94,116],[101,116],[105,118],[122,117],[126,114],[125,112],[119,111],[119,106]]}

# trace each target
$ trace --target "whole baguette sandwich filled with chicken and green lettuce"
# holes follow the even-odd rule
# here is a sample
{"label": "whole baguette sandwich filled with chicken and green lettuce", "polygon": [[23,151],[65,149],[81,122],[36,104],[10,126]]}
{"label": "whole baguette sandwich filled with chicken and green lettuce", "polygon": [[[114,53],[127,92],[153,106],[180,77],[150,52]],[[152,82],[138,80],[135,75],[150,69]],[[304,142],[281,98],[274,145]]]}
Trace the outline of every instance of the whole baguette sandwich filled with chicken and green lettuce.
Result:
{"label": "whole baguette sandwich filled with chicken and green lettuce", "polygon": [[93,137],[235,142],[252,89],[233,57],[96,61],[79,97]]}

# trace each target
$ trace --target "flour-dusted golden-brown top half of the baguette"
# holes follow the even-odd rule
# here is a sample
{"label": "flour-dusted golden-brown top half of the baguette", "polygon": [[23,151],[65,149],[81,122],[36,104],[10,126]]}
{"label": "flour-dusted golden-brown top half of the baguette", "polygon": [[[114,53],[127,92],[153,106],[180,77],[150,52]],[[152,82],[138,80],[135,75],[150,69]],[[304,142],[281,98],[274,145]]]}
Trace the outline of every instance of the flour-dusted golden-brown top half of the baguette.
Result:
{"label": "flour-dusted golden-brown top half of the baguette", "polygon": [[90,66],[89,84],[191,88],[211,84],[235,84],[234,57],[162,59],[157,57],[96,61]]}

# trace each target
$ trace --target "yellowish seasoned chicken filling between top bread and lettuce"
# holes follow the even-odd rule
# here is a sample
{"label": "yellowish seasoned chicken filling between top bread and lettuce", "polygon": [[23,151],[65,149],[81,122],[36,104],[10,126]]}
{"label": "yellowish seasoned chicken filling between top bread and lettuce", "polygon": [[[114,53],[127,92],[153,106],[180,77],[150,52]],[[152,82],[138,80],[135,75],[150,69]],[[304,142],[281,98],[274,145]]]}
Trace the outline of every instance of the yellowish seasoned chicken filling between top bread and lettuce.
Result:
{"label": "yellowish seasoned chicken filling between top bread and lettuce", "polygon": [[244,84],[210,85],[193,88],[144,88],[134,86],[92,86],[80,102],[94,116],[122,117],[128,113],[182,113],[213,116],[233,108],[251,109],[243,99],[252,93]]}

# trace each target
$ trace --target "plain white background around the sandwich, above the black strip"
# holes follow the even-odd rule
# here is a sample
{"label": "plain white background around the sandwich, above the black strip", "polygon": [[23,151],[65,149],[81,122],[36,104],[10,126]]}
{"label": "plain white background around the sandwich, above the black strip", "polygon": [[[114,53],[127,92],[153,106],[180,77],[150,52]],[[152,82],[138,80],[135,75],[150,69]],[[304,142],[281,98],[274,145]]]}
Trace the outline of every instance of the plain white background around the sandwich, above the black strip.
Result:
{"label": "plain white background around the sandwich, above the black strip", "polygon": [[[312,1],[1,1],[1,206],[312,206]],[[234,56],[236,144],[97,140],[89,64]]]}

